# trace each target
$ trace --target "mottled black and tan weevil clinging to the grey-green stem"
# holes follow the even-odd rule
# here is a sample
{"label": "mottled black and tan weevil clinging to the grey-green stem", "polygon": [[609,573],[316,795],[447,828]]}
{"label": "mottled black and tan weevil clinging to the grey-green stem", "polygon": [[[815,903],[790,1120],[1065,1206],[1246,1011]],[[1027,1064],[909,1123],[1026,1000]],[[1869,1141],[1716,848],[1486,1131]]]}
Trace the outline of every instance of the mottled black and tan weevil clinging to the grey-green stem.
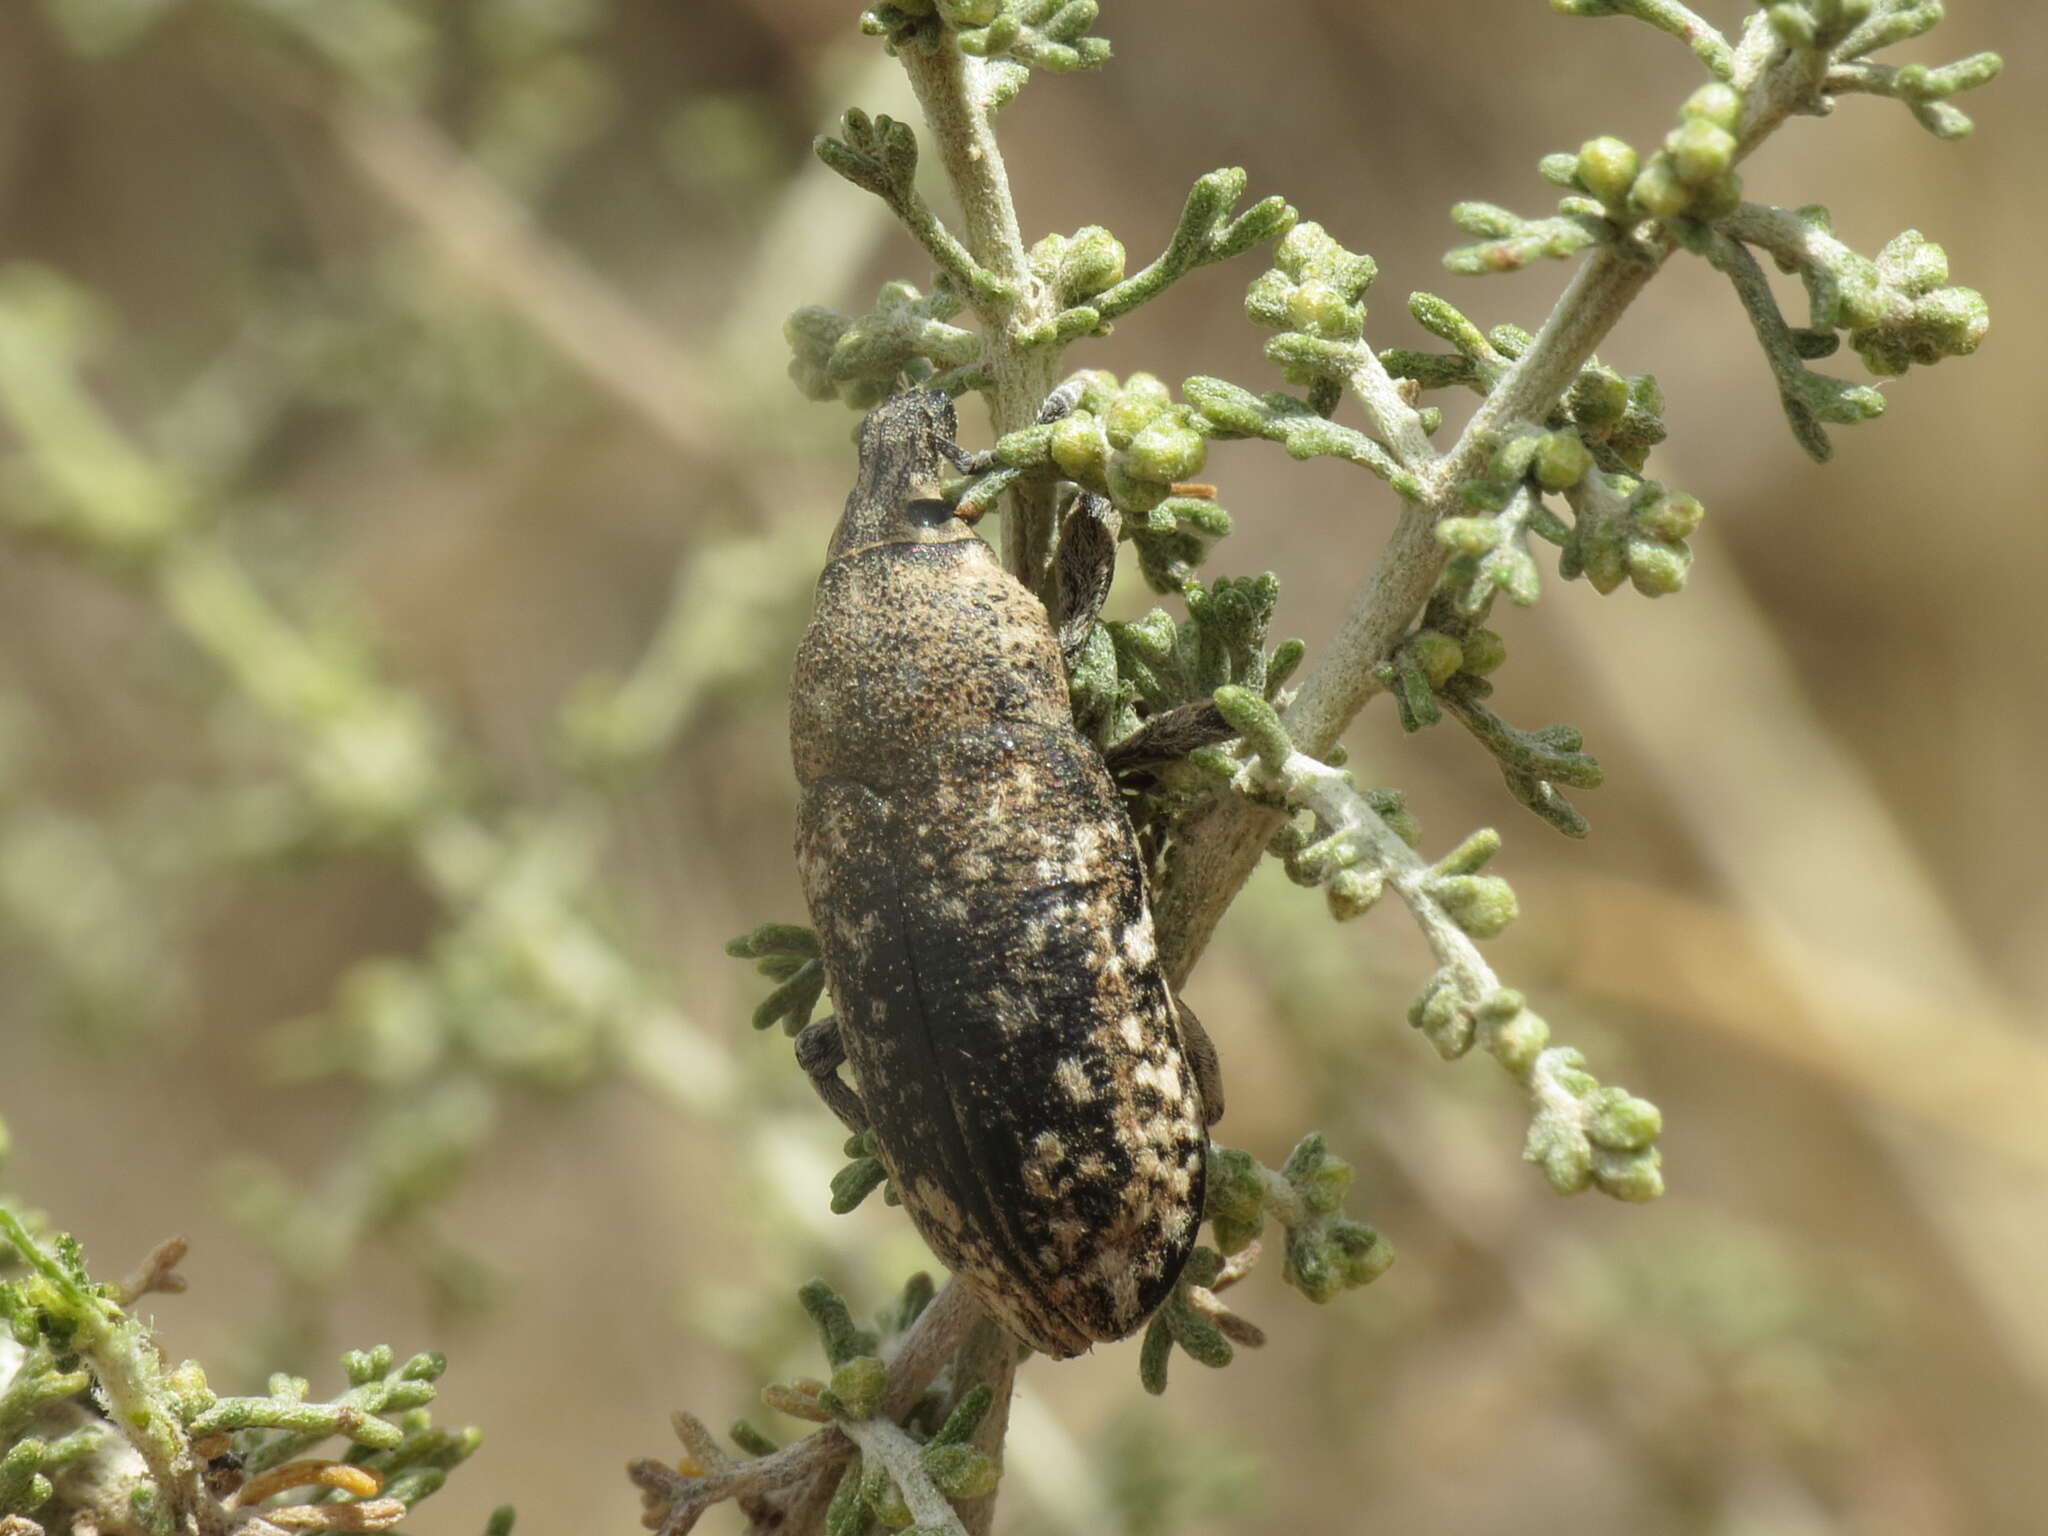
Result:
{"label": "mottled black and tan weevil clinging to the grey-green stem", "polygon": [[797,862],[836,1008],[797,1057],[874,1130],[940,1262],[1067,1358],[1180,1278],[1223,1094],[1161,969],[1130,819],[1069,713],[1114,514],[1085,496],[1067,514],[1055,629],[940,496],[969,463],[954,432],[926,391],[862,422],[797,651]]}

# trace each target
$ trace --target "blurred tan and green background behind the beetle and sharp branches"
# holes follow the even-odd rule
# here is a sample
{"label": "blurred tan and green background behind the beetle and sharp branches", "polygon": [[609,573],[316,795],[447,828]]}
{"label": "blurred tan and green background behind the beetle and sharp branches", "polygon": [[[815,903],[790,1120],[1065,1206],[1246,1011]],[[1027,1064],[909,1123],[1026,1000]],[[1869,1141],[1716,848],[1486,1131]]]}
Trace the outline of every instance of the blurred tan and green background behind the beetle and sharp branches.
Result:
{"label": "blurred tan and green background behind the beetle and sharp branches", "polygon": [[[930,276],[809,154],[850,104],[909,115],[856,10],[0,8],[6,1182],[109,1276],[186,1233],[158,1319],[223,1391],[446,1348],[440,1417],[485,1446],[422,1532],[637,1528],[623,1462],[674,1454],[672,1407],[801,1427],[754,1403],[817,1368],[801,1280],[868,1311],[928,1264],[879,1202],[827,1214],[838,1128],[723,954],[801,920],[782,680],[852,465],[780,322]],[[1427,340],[1417,287],[1540,322],[1567,270],[1448,279],[1446,207],[1542,211],[1540,154],[1655,143],[1698,76],[1536,0],[1100,31],[1104,74],[1001,119],[1026,238],[1108,223],[1137,264],[1241,164],[1378,258],[1382,346]],[[2044,45],[2042,8],[1958,0],[1909,57],[2005,53],[1972,139],[1851,96],[1745,166],[1991,297],[1982,352],[1833,465],[1700,262],[1604,348],[1663,383],[1651,469],[1708,520],[1677,598],[1497,614],[1495,705],[1606,764],[1591,838],[1384,700],[1352,737],[1427,850],[1503,829],[1489,952],[1663,1106],[1665,1200],[1554,1198],[1503,1073],[1403,1022],[1403,913],[1339,930],[1266,870],[1190,985],[1225,1139],[1325,1130],[1401,1262],[1321,1311],[1255,1274],[1270,1346],[1161,1401],[1135,1343],[1028,1368],[999,1530],[2042,1530]],[[1257,270],[1069,358],[1272,387]],[[1313,662],[1391,498],[1260,442],[1208,477],[1210,571],[1278,571]]]}

